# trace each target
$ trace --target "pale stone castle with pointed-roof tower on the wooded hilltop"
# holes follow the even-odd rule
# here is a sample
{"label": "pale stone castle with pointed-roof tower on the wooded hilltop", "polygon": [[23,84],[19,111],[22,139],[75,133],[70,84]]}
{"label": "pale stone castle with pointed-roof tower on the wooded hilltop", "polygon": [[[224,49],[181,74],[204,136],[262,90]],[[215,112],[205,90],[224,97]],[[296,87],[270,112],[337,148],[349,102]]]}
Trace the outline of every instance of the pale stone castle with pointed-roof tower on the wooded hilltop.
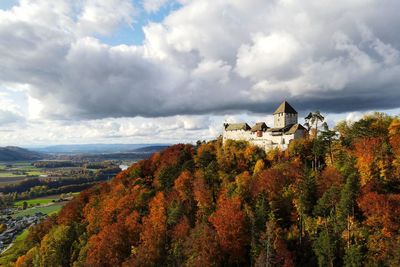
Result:
{"label": "pale stone castle with pointed-roof tower on the wooded hilltop", "polygon": [[273,148],[286,149],[293,139],[307,133],[297,121],[297,111],[284,101],[274,112],[274,127],[258,122],[253,127],[247,123],[224,123],[223,143],[227,140],[244,140],[261,147],[265,151]]}

